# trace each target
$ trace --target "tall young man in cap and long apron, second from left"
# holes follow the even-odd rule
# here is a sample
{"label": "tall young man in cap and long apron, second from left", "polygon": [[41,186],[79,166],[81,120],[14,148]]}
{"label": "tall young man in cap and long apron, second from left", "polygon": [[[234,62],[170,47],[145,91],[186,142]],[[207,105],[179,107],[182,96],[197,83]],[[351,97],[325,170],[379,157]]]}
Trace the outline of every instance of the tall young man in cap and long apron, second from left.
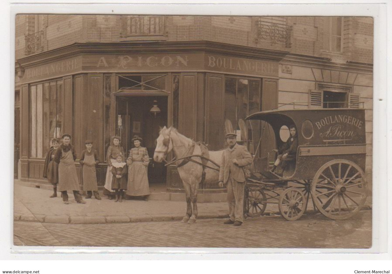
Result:
{"label": "tall young man in cap and long apron, second from left", "polygon": [[86,202],[82,200],[82,196],[79,193],[79,180],[75,166],[76,152],[70,144],[71,135],[65,133],[61,138],[63,143],[54,154],[54,161],[58,163],[58,191],[63,195],[63,201],[66,205],[69,204],[68,190],[73,191],[78,204],[85,204]]}

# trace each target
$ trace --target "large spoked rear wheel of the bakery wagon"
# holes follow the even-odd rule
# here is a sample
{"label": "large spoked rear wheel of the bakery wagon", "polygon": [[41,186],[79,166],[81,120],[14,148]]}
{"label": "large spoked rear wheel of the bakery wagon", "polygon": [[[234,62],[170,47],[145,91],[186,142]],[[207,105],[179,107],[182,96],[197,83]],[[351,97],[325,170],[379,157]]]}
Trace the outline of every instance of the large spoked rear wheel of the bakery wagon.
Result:
{"label": "large spoked rear wheel of the bakery wagon", "polygon": [[361,210],[365,203],[365,174],[351,161],[330,161],[314,175],[312,195],[317,209],[324,216],[335,220],[348,219]]}

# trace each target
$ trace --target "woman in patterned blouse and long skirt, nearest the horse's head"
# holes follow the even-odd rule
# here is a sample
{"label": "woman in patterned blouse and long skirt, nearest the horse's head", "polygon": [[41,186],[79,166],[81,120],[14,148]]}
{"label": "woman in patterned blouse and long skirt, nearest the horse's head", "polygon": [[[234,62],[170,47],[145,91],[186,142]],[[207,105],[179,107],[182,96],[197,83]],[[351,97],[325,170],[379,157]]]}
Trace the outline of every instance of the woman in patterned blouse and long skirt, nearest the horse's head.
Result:
{"label": "woman in patterned blouse and long skirt, nearest the horse's head", "polygon": [[150,158],[147,153],[147,148],[140,146],[142,138],[134,136],[132,142],[134,148],[129,151],[127,159],[128,165],[128,185],[126,194],[129,196],[143,196],[147,201],[147,196],[150,195],[150,188],[147,177],[147,166],[150,163]]}

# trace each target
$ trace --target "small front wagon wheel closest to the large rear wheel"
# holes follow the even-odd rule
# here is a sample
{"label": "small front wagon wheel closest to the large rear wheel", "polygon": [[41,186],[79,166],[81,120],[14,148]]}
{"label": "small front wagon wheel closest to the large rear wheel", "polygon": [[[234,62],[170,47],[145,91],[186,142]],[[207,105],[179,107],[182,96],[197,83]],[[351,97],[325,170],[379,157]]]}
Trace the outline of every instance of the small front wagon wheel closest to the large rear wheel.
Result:
{"label": "small front wagon wheel closest to the large rear wheel", "polygon": [[305,196],[295,187],[287,188],[279,197],[280,214],[289,221],[295,221],[305,212]]}

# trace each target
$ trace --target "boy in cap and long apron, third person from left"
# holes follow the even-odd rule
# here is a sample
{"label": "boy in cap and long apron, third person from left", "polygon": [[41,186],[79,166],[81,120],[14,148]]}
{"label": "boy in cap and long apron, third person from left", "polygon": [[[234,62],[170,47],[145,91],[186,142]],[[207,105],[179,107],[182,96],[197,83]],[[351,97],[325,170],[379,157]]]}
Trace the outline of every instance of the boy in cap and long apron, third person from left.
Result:
{"label": "boy in cap and long apron, third person from left", "polygon": [[80,164],[82,165],[82,178],[83,178],[83,190],[87,191],[86,199],[91,199],[94,192],[94,197],[100,200],[101,197],[98,194],[98,184],[96,175],[96,165],[99,163],[99,156],[96,150],[93,150],[93,141],[86,140],[86,149],[82,151],[80,157]]}

